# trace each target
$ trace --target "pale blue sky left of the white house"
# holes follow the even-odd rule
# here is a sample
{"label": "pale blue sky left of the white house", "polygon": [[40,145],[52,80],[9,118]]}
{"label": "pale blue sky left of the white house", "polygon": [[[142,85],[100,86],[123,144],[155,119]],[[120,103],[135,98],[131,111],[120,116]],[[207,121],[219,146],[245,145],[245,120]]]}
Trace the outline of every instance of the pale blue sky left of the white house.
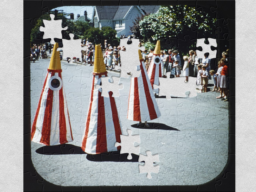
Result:
{"label": "pale blue sky left of the white house", "polygon": [[[63,10],[63,12],[66,12],[66,13],[74,13],[75,19],[77,14],[80,14],[80,16],[82,16],[84,15],[84,11],[87,11],[87,17],[92,19],[93,6],[63,6],[63,7],[57,7],[54,9]],[[51,11],[54,11],[54,9],[52,9]]]}

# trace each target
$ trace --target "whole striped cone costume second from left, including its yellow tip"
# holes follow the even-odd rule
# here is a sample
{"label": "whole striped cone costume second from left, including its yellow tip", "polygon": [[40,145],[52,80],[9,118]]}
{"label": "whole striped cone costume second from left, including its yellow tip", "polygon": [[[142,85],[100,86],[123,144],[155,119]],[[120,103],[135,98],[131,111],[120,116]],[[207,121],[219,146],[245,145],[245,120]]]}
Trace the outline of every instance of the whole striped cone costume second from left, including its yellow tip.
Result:
{"label": "whole striped cone costume second from left, including its yellow tip", "polygon": [[103,97],[101,88],[95,89],[96,84],[101,84],[101,77],[106,76],[101,48],[96,45],[90,105],[82,142],[82,150],[88,154],[120,150],[120,146],[115,147],[116,142],[121,142],[122,134],[115,99],[112,92],[109,97]]}

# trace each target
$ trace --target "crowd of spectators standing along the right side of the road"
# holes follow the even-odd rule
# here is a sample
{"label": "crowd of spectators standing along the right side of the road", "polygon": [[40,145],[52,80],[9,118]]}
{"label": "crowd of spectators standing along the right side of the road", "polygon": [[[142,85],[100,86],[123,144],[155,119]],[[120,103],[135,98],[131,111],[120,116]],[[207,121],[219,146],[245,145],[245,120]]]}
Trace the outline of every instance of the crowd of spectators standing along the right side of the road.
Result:
{"label": "crowd of spectators standing along the right side of the road", "polygon": [[[153,58],[153,52],[153,49],[142,52],[142,58],[144,59],[147,71]],[[226,77],[228,76],[228,50],[222,52],[222,58],[218,62],[217,72],[215,72],[215,68],[211,70],[211,59],[208,58],[209,53],[204,53],[204,58],[198,58],[196,52],[190,50],[188,55],[183,56],[184,64],[182,66],[178,50],[161,50],[159,57],[161,58],[162,77],[167,77],[166,72],[171,72],[170,78],[180,77],[181,71],[183,71],[183,75],[186,76],[186,83],[188,82],[189,72],[192,72],[190,76],[197,77],[196,84],[201,84],[203,87],[200,92],[207,92],[208,79],[211,79],[213,76],[214,88],[211,92],[220,92],[220,96],[216,98],[227,101],[228,82]]]}

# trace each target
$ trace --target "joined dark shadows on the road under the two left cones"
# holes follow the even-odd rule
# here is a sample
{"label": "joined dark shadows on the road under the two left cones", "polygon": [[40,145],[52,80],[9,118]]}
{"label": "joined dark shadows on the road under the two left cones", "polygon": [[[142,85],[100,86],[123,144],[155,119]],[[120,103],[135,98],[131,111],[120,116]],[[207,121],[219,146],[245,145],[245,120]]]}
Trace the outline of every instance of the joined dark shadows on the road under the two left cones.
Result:
{"label": "joined dark shadows on the road under the two left cones", "polygon": [[[81,147],[71,144],[61,144],[53,146],[44,146],[36,149],[36,153],[43,155],[71,155],[87,154]],[[86,159],[89,161],[113,161],[113,162],[138,162],[139,156],[132,154],[132,159],[127,159],[128,153],[120,154],[120,151],[112,151],[101,154],[87,154]]]}

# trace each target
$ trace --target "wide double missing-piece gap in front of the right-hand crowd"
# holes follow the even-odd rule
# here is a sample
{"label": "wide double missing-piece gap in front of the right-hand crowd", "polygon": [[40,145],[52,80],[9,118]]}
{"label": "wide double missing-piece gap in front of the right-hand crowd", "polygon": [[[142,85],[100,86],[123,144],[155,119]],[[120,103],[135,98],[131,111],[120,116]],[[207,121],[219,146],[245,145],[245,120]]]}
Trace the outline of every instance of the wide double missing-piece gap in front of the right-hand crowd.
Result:
{"label": "wide double missing-piece gap in front of the right-hand crowd", "polygon": [[[166,76],[170,76],[171,72],[167,72]],[[154,89],[159,89],[158,96],[166,96],[167,100],[174,97],[196,97],[196,89],[202,89],[202,85],[196,85],[196,77],[188,77],[185,83],[185,77],[175,78],[159,78],[159,85],[154,84]],[[179,84],[179,89],[175,86]],[[186,90],[186,91],[185,91]]]}

